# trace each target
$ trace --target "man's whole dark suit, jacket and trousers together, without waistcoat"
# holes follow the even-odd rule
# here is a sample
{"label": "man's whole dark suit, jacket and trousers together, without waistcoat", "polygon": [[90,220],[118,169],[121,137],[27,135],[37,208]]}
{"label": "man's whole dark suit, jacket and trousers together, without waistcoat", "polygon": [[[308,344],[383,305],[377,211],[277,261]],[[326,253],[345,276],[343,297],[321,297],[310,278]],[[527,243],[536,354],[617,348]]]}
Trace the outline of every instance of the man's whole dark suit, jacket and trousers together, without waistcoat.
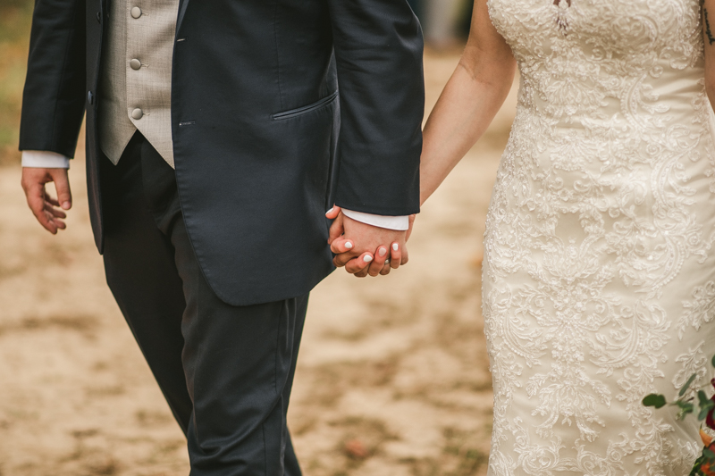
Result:
{"label": "man's whole dark suit, jacket and trousers together, without waistcoat", "polygon": [[421,30],[406,0],[183,0],[175,171],[99,150],[111,0],[37,0],[21,149],[71,156],[87,112],[106,278],[188,439],[192,476],[299,476],[286,427],[324,211],[416,213]]}

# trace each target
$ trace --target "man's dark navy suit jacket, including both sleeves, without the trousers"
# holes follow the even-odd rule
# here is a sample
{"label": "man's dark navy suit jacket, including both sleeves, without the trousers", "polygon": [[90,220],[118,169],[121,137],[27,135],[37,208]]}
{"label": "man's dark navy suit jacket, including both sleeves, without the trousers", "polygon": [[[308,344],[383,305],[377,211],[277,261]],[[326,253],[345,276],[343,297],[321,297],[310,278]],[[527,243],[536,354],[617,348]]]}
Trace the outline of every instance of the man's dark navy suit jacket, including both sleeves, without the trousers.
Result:
{"label": "man's dark navy suit jacket, including both sleeves, without the trousers", "polygon": [[[87,112],[90,215],[102,251],[97,140],[112,0],[37,0],[20,148],[73,156]],[[181,208],[215,293],[250,305],[332,271],[333,201],[418,211],[422,33],[406,0],[183,0],[172,72]]]}

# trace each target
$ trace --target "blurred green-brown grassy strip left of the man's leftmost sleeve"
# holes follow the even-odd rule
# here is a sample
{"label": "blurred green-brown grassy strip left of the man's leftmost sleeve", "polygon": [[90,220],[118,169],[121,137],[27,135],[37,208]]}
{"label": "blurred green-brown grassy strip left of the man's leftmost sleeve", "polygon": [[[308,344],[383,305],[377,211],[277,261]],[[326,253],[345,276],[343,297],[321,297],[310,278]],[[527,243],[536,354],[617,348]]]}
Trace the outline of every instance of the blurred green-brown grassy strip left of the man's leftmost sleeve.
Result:
{"label": "blurred green-brown grassy strip left of the man's leftmost sleeve", "polygon": [[32,0],[0,0],[0,163],[17,163]]}

